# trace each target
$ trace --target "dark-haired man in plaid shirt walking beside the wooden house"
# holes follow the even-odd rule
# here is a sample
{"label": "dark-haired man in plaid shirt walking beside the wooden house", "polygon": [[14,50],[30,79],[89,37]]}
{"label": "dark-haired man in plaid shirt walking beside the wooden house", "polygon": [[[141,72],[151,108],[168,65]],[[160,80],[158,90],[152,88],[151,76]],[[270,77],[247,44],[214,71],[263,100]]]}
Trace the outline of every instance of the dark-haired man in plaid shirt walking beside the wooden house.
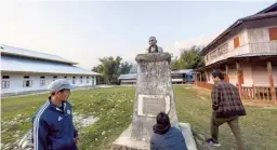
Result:
{"label": "dark-haired man in plaid shirt walking beside the wooden house", "polygon": [[211,119],[211,138],[207,139],[210,146],[220,146],[219,126],[228,123],[238,145],[239,150],[245,150],[241,131],[238,124],[238,118],[246,115],[246,110],[239,97],[235,85],[224,81],[224,76],[216,70],[212,73],[214,85],[212,88],[212,119]]}

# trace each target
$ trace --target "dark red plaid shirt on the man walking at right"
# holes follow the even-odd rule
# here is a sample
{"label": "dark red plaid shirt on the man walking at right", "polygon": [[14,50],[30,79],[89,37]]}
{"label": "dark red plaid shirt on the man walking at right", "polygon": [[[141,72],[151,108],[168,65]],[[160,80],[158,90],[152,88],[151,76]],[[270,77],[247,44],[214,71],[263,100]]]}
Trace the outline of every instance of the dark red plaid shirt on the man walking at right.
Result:
{"label": "dark red plaid shirt on the man walking at right", "polygon": [[212,88],[212,109],[217,118],[246,115],[246,110],[236,86],[220,81]]}

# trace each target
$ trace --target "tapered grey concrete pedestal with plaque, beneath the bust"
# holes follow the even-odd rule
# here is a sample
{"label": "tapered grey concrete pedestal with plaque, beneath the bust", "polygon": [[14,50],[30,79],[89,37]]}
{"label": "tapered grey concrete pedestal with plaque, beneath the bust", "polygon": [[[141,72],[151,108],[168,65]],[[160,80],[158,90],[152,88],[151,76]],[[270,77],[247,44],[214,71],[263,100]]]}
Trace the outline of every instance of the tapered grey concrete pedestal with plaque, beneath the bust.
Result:
{"label": "tapered grey concrete pedestal with plaque, beneath the bust", "polygon": [[179,123],[173,93],[169,53],[138,54],[136,99],[132,124],[114,142],[113,150],[149,150],[153,125],[159,112],[169,115],[171,126],[180,128],[189,150],[196,150],[187,123]]}

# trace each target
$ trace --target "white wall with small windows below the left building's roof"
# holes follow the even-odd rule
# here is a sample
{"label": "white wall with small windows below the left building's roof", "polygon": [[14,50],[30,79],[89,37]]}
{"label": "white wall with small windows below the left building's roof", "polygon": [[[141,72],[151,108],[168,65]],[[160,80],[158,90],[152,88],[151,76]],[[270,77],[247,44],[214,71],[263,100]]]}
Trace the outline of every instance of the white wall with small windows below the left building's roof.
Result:
{"label": "white wall with small windows below the left building's roof", "polygon": [[[47,90],[48,85],[54,80],[53,77],[55,74],[28,74],[28,73],[5,73],[2,72],[2,76],[10,76],[10,86],[9,88],[1,88],[1,94],[5,93],[19,93],[19,92],[29,92],[29,91],[39,91],[39,90]],[[29,76],[28,80],[32,81],[32,84],[30,87],[23,87],[23,81],[24,76]],[[45,77],[44,79],[40,79],[40,77],[43,76]],[[63,79],[65,76],[56,76],[57,79]],[[74,76],[66,76],[67,80],[72,83],[72,77]],[[96,78],[93,76],[82,76],[82,84],[80,83],[80,76],[75,76],[76,77],[76,84],[77,86],[93,86],[96,85]],[[87,83],[87,77],[89,77],[89,83]],[[2,79],[6,80],[6,79]],[[26,79],[27,80],[27,79]],[[40,80],[45,80],[45,85],[40,86]]]}

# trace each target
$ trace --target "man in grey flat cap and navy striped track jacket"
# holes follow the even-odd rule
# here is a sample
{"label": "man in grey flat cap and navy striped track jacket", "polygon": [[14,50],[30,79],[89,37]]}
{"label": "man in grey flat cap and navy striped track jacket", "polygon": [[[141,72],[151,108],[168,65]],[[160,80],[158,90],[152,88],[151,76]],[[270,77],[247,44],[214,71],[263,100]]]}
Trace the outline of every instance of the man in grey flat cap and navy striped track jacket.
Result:
{"label": "man in grey flat cap and navy striped track jacket", "polygon": [[32,120],[34,150],[78,150],[78,133],[67,101],[74,86],[65,79],[49,85],[51,96]]}

